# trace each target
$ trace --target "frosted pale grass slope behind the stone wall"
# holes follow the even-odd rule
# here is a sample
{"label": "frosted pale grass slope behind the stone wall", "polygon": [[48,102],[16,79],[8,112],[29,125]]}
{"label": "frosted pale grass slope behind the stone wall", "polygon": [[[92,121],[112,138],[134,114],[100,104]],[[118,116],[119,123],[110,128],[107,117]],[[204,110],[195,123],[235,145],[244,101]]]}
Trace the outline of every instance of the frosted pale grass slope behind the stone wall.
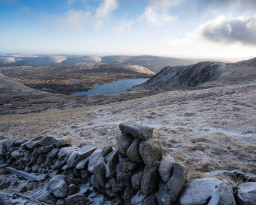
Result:
{"label": "frosted pale grass slope behind the stone wall", "polygon": [[[130,101],[72,110],[5,115],[0,139],[69,136],[72,145],[116,146],[120,122],[154,128],[164,155],[188,166],[189,177],[205,172],[255,172],[256,83],[196,91],[171,91]],[[118,94],[117,94],[118,95]],[[236,182],[231,182],[236,183]]]}

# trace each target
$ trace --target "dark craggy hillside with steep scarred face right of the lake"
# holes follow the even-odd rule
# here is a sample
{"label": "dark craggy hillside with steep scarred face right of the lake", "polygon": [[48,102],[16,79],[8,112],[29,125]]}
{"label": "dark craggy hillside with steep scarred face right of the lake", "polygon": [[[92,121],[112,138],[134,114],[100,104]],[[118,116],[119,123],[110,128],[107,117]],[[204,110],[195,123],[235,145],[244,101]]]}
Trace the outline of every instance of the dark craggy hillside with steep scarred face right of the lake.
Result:
{"label": "dark craggy hillside with steep scarred face right of the lake", "polygon": [[256,80],[256,67],[201,62],[190,66],[165,67],[142,87],[228,86]]}

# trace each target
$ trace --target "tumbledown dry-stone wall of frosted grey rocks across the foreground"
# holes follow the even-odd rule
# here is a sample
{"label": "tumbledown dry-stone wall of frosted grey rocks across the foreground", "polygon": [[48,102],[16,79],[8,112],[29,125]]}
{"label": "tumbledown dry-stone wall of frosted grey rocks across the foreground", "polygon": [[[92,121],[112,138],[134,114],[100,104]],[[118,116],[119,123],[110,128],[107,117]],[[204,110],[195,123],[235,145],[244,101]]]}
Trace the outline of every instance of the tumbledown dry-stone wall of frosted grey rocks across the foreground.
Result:
{"label": "tumbledown dry-stone wall of frosted grey rocks across the foreground", "polygon": [[[119,128],[121,134],[114,151],[112,146],[74,147],[68,138],[56,136],[6,139],[0,164],[28,173],[48,173],[48,186],[35,193],[34,199],[46,202],[57,197],[58,205],[89,203],[75,179],[91,183],[109,197],[122,198],[124,204],[236,204],[234,187],[227,180],[212,177],[187,183],[187,168],[171,156],[162,158],[161,145],[152,138],[152,128],[125,123]],[[236,187],[237,192],[243,184]],[[250,186],[256,190],[255,184]],[[242,192],[237,197],[247,200]]]}

